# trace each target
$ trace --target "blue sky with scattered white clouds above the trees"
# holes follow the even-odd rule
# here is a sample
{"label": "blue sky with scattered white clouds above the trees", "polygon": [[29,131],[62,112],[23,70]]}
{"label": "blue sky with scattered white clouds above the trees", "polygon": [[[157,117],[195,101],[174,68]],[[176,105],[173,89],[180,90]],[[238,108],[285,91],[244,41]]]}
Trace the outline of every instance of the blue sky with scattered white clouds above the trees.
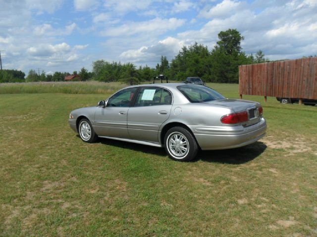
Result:
{"label": "blue sky with scattered white clouds above the trees", "polygon": [[317,0],[0,0],[3,69],[92,70],[96,60],[155,67],[184,45],[211,50],[237,29],[246,54],[317,54]]}

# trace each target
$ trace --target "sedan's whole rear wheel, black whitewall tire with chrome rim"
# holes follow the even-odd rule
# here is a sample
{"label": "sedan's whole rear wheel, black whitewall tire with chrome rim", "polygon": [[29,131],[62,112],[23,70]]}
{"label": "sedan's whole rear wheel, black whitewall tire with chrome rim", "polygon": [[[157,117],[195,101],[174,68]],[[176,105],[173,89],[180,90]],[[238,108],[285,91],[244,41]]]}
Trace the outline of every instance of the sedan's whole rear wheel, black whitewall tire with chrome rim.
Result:
{"label": "sedan's whole rear wheel, black whitewall tire with chrome rim", "polygon": [[178,161],[192,160],[199,150],[192,133],[179,126],[172,127],[166,132],[164,148],[170,158]]}

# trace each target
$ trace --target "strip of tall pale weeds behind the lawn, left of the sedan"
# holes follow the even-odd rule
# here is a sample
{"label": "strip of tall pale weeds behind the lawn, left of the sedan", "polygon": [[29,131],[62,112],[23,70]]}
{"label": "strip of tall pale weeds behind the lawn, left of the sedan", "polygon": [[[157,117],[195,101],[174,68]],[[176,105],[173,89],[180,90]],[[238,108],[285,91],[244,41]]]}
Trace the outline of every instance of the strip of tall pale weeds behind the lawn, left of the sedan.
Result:
{"label": "strip of tall pale weeds behind the lawn, left of the sedan", "polygon": [[64,94],[112,94],[126,86],[119,82],[24,82],[0,83],[0,94],[64,93]]}

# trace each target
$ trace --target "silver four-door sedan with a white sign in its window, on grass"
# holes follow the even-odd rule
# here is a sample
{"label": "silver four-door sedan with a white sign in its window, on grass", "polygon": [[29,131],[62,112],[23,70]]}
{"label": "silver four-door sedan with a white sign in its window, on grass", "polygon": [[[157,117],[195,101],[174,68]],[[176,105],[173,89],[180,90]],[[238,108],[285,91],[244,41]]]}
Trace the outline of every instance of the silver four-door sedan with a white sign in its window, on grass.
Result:
{"label": "silver four-door sedan with a white sign in its window, on grass", "polygon": [[199,149],[246,146],[266,130],[260,103],[184,83],[129,86],[97,106],[72,111],[68,121],[84,142],[103,137],[164,147],[181,161],[195,158]]}

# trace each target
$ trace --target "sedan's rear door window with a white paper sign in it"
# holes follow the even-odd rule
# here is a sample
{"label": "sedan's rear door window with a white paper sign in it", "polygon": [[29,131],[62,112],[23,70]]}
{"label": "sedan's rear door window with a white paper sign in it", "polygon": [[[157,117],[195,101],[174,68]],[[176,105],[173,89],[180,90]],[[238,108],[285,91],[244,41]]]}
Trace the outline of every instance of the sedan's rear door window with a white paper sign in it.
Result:
{"label": "sedan's rear door window with a white paper sign in it", "polygon": [[135,101],[135,107],[170,105],[172,96],[169,91],[159,87],[142,87]]}

